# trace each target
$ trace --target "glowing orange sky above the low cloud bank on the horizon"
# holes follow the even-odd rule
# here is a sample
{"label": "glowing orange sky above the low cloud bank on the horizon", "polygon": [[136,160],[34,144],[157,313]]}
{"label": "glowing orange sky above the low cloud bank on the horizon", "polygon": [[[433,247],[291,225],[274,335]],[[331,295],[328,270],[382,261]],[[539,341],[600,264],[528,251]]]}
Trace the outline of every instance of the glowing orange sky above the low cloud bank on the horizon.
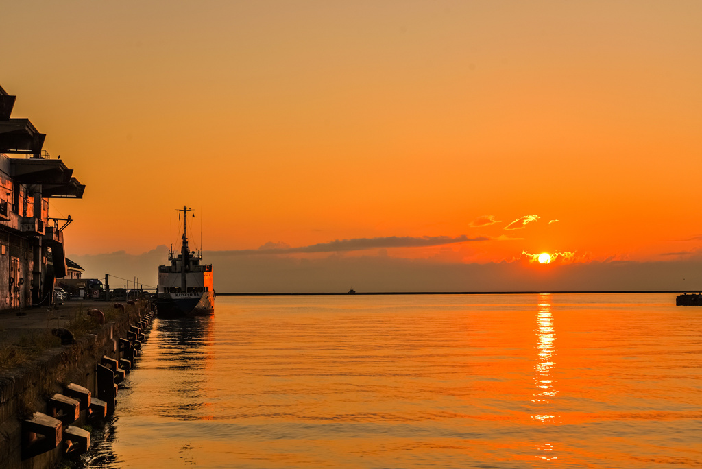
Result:
{"label": "glowing orange sky above the low cloud bank on the horizon", "polygon": [[75,220],[69,256],[167,245],[184,204],[217,251],[465,234],[490,239],[384,252],[487,263],[701,246],[698,1],[3,11],[13,117],[87,185],[51,201]]}

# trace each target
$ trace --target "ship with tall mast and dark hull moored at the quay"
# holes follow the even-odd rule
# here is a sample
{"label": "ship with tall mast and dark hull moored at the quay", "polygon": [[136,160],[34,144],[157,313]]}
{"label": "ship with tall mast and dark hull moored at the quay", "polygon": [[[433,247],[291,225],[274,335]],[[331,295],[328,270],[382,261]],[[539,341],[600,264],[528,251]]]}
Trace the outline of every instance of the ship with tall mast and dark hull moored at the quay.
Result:
{"label": "ship with tall mast and dark hull moored at the quay", "polygon": [[[168,251],[168,265],[159,265],[156,296],[159,317],[211,315],[215,292],[212,288],[212,265],[202,263],[202,251],[190,251],[187,244],[187,213],[184,206],[183,243],[180,253]],[[194,216],[194,215],[193,215]]]}

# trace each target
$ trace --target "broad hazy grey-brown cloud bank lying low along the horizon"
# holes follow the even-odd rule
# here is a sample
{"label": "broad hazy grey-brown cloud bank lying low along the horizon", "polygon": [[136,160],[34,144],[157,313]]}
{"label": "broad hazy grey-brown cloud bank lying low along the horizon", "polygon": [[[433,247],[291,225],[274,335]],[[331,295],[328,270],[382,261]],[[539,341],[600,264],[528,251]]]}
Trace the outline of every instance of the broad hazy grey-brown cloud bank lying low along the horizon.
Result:
{"label": "broad hazy grey-brown cloud bank lying low along the horizon", "polygon": [[[546,269],[535,269],[524,256],[517,262],[482,264],[455,260],[439,263],[375,253],[298,258],[205,251],[204,260],[213,264],[218,292],[345,292],[351,286],[359,292],[682,290],[702,284],[702,258],[581,262],[587,255],[578,252],[577,262],[551,263]],[[138,256],[122,251],[91,256],[69,253],[68,257],[86,269],[86,278],[102,278],[109,272],[113,287],[131,283],[134,277],[146,286],[158,282],[156,266],[168,261],[168,248],[159,246]],[[670,296],[670,300],[674,302],[675,298]]]}

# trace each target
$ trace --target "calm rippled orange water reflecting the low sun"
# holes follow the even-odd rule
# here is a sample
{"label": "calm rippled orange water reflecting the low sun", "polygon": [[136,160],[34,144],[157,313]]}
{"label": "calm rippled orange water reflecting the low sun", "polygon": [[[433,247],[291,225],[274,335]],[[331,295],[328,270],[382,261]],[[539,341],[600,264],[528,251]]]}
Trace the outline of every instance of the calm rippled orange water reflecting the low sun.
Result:
{"label": "calm rippled orange water reflecting the low sun", "polygon": [[95,468],[702,468],[675,295],[218,297],[157,319]]}

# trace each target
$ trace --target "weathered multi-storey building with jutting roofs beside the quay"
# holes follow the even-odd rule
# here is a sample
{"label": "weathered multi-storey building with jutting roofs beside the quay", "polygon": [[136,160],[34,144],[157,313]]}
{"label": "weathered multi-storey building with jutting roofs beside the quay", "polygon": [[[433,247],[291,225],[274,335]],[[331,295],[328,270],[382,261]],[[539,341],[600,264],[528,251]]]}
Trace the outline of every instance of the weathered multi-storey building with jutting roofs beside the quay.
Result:
{"label": "weathered multi-storey building with jutting roofs beside the quay", "polygon": [[85,190],[42,150],[46,134],[10,117],[15,99],[0,87],[0,310],[51,303],[55,279],[67,275],[63,228],[71,220],[49,217],[48,199],[81,199]]}

